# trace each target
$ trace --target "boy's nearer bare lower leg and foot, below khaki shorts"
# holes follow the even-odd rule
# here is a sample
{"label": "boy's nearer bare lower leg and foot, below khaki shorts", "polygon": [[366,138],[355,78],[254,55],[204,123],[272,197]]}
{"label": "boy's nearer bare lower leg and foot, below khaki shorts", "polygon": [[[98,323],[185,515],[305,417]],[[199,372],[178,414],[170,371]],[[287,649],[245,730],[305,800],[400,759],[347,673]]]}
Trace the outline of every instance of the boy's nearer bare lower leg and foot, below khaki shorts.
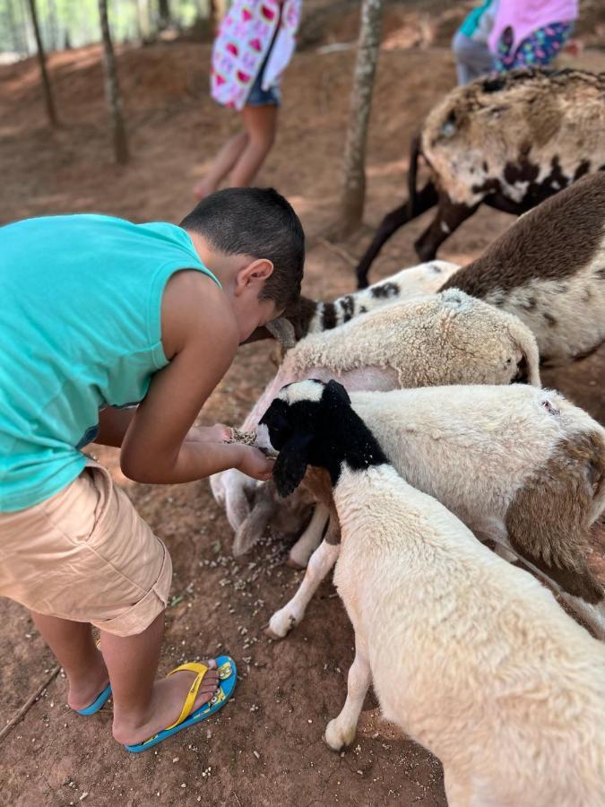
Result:
{"label": "boy's nearer bare lower leg and foot, below khaki shorts", "polygon": [[[101,651],[113,690],[113,733],[117,742],[126,745],[143,742],[180,715],[195,674],[177,672],[155,681],[163,632],[163,614],[135,636],[120,637],[101,631]],[[218,673],[211,669],[198,690],[194,708],[210,700],[218,684]]]}

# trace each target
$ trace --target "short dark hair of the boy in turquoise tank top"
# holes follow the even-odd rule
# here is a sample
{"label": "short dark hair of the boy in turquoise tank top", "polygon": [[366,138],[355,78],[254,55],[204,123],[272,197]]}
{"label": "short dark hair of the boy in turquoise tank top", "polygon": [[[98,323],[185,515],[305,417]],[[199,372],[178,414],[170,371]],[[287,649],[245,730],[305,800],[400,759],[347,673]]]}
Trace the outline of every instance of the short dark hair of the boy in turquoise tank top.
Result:
{"label": "short dark hair of the boy in turquoise tank top", "polygon": [[292,205],[272,187],[228,187],[206,196],[181,221],[225,255],[266,258],[273,265],[260,299],[282,310],[300,297],[305,233]]}

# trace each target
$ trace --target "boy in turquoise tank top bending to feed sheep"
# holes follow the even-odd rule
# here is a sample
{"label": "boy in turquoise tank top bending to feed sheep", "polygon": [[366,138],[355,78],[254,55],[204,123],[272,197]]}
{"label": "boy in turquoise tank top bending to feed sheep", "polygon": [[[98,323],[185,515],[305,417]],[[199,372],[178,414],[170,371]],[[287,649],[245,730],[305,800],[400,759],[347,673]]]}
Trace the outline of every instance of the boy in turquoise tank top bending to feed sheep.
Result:
{"label": "boy in turquoise tank top bending to feed sheep", "polygon": [[130,751],[220,708],[235,664],[156,680],[169,552],[81,448],[121,447],[138,482],[268,479],[257,449],[193,424],[238,344],[298,299],[304,249],[290,204],[259,188],[210,195],[179,227],[73,215],[0,230],[0,595],[30,609],[73,709],[113,694]]}

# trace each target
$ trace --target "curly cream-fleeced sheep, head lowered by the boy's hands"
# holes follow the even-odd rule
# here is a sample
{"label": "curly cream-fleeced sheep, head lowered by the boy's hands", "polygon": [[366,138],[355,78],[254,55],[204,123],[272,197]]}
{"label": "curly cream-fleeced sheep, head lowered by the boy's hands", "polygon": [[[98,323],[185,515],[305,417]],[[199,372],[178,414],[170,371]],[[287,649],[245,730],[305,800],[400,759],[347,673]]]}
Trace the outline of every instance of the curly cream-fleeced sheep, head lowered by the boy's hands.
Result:
{"label": "curly cream-fleeced sheep, head lowered by the boy's hands", "polygon": [[[538,351],[515,317],[461,291],[393,304],[322,334],[309,334],[286,356],[243,429],[255,429],[281,386],[337,377],[349,389],[444,384],[540,384]],[[231,470],[211,479],[234,530],[250,511],[255,482]]]}

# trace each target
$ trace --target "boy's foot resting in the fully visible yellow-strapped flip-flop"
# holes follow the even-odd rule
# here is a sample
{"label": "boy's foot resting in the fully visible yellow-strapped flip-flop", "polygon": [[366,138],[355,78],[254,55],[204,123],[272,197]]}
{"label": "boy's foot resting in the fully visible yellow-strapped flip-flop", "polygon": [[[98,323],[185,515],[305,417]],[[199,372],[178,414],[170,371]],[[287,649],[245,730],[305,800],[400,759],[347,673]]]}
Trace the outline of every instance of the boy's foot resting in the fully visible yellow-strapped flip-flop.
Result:
{"label": "boy's foot resting in the fully visible yellow-strapped flip-flop", "polygon": [[[209,669],[197,691],[192,711],[212,699],[219,687],[219,673],[214,659],[204,661],[203,664]],[[195,677],[194,672],[181,671],[156,681],[151,693],[149,714],[143,716],[143,719],[136,719],[135,716],[116,718],[114,711],[113,734],[117,742],[123,745],[136,745],[176,723]]]}

